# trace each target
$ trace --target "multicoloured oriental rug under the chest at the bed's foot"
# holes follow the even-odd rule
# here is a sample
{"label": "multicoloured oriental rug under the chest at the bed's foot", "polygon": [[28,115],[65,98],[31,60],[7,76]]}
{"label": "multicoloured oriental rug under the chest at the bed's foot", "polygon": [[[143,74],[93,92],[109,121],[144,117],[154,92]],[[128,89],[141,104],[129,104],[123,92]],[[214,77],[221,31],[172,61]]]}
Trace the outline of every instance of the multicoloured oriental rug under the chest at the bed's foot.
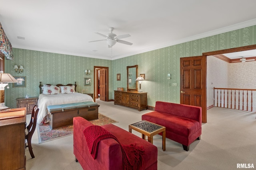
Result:
{"label": "multicoloured oriental rug under the chest at the bed's foot", "polygon": [[[118,121],[115,121],[113,119],[110,119],[109,117],[106,117],[105,115],[102,115],[99,113],[98,119],[90,121],[94,125],[106,125],[110,123],[117,123]],[[68,135],[73,134],[73,125],[66,126],[66,127],[60,127],[58,129],[50,129],[49,123],[38,125],[37,126],[37,133],[38,133],[38,141],[39,143],[44,143],[47,141],[52,141],[54,139],[58,139],[60,137],[66,137]]]}

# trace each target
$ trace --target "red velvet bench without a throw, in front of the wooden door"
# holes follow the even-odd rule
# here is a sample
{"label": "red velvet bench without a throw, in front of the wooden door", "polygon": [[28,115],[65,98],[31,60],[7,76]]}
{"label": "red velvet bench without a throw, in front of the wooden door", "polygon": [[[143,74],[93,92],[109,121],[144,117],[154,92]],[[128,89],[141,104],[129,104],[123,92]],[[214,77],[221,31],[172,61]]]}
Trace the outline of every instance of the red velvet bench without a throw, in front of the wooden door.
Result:
{"label": "red velvet bench without a throw, in front of the wooden door", "polygon": [[166,138],[189,145],[202,134],[202,108],[169,102],[156,102],[155,110],[142,115],[142,120],[166,127]]}

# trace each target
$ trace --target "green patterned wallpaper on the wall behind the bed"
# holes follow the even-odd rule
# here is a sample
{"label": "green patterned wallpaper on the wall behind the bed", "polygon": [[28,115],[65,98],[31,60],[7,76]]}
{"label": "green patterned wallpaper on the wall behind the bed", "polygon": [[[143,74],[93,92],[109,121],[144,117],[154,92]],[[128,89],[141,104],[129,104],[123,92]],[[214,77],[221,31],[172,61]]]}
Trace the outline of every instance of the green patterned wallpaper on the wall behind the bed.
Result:
{"label": "green patterned wallpaper on the wall behind the bed", "polygon": [[[13,49],[14,60],[5,61],[5,72],[12,76],[26,76],[26,88],[10,88],[5,90],[5,104],[8,107],[16,108],[16,98],[24,98],[26,94],[30,97],[39,96],[39,82],[42,84],[77,84],[77,91],[93,93],[94,86],[84,86],[84,77],[92,78],[94,82],[94,66],[109,67],[112,73],[112,61],[103,59],[93,59],[88,57],[78,57],[56,53],[46,53],[25,49]],[[22,65],[24,72],[17,74],[14,65]],[[84,70],[91,70],[90,75],[86,75]],[[112,74],[110,74],[110,91],[112,89]]]}

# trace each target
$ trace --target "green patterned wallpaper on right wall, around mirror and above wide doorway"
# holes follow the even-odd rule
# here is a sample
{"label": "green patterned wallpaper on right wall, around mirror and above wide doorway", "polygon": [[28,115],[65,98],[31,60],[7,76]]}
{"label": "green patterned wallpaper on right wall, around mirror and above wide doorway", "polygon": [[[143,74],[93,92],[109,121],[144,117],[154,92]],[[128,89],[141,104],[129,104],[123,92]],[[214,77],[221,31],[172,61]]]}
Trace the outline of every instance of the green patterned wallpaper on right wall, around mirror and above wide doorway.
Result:
{"label": "green patterned wallpaper on right wall, around mirror and above wide doorway", "polygon": [[[158,100],[180,103],[180,58],[200,56],[204,52],[242,47],[256,44],[256,25],[165,47],[162,49],[114,60],[113,77],[121,73],[121,81],[114,80],[114,89],[126,88],[126,66],[138,64],[138,74],[145,74],[141,84],[148,92],[148,106],[155,106]],[[167,79],[172,74],[172,79]],[[177,83],[177,86],[172,86]]]}

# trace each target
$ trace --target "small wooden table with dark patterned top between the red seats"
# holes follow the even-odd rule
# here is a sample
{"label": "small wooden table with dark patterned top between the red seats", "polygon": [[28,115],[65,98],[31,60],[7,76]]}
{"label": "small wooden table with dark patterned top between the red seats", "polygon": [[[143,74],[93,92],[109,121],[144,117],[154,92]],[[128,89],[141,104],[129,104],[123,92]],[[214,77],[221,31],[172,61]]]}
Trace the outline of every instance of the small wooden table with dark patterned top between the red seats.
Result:
{"label": "small wooden table with dark patterned top between the red seats", "polygon": [[138,123],[129,125],[129,132],[132,133],[132,129],[142,133],[142,139],[145,139],[145,135],[148,136],[148,142],[153,144],[153,136],[158,133],[163,133],[162,136],[162,149],[165,151],[165,138],[166,138],[166,127],[142,120]]}

